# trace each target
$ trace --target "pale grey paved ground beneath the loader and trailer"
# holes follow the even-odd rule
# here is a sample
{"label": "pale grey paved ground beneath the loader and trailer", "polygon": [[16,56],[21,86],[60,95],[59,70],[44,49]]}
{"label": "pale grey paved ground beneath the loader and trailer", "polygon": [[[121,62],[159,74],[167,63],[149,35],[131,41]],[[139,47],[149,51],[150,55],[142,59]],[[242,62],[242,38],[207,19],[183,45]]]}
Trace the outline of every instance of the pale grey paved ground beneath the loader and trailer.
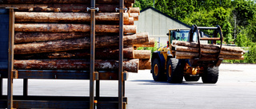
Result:
{"label": "pale grey paved ground beneath the loader and trailer", "polygon": [[[221,64],[217,84],[154,82],[150,70],[129,73],[128,109],[256,109],[256,64]],[[6,95],[6,80],[3,94]],[[102,80],[101,96],[118,96],[118,81]],[[89,80],[29,80],[29,95],[89,96]],[[22,80],[14,80],[22,95]]]}

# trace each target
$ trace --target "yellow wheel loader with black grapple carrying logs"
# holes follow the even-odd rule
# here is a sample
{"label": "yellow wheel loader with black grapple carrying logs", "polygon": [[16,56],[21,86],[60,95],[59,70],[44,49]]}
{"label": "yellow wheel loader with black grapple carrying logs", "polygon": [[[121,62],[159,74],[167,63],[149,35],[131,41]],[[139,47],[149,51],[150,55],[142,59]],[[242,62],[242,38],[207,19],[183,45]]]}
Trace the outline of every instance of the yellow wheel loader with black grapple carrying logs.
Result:
{"label": "yellow wheel loader with black grapple carrying logs", "polygon": [[[203,29],[213,29],[213,37],[206,37]],[[218,37],[218,34],[220,37]],[[186,81],[198,81],[200,76],[204,84],[215,84],[218,81],[218,66],[223,58],[219,57],[222,49],[222,29],[216,27],[198,27],[192,25],[191,29],[169,29],[167,46],[155,51],[151,58],[151,73],[154,81],[168,81],[181,84],[183,76]],[[198,57],[192,59],[178,58],[174,53],[173,41],[188,41],[198,43]],[[218,53],[214,58],[202,56],[200,43],[211,41],[216,45],[220,41]]]}

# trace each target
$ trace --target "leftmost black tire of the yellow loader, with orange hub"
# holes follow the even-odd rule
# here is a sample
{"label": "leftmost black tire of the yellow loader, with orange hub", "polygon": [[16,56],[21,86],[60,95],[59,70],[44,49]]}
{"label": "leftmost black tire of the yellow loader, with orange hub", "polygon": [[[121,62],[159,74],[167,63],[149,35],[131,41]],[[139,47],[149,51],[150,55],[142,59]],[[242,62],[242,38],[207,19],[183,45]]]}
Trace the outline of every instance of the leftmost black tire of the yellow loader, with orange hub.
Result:
{"label": "leftmost black tire of the yellow loader, with orange hub", "polygon": [[154,59],[151,64],[151,73],[154,81],[166,81],[166,76],[162,71],[160,61],[158,59]]}

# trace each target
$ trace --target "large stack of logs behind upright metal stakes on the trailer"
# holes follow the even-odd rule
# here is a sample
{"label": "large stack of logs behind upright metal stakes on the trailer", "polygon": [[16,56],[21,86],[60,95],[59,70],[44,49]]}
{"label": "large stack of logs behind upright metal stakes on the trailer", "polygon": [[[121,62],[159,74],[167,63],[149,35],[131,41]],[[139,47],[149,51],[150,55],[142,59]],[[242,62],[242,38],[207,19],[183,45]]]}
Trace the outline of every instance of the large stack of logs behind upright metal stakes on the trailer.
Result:
{"label": "large stack of logs behind upright metal stakes on the trailer", "polygon": [[[17,7],[14,24],[14,68],[36,70],[89,70],[90,0],[2,0],[0,8]],[[152,47],[148,33],[136,33],[139,8],[134,0],[124,13],[123,68],[128,72],[150,69]],[[95,70],[118,70],[118,0],[96,0]]]}

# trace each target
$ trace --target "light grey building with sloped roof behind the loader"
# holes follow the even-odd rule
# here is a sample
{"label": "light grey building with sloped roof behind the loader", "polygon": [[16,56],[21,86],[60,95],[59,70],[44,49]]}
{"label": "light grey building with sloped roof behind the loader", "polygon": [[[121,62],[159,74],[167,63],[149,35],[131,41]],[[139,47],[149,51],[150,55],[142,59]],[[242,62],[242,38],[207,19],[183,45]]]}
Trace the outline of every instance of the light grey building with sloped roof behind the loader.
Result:
{"label": "light grey building with sloped roof behind the loader", "polygon": [[154,37],[161,46],[166,45],[168,29],[190,28],[190,25],[163,14],[151,6],[141,10],[138,19],[134,21],[134,25],[137,25],[137,33],[148,32],[150,37]]}

